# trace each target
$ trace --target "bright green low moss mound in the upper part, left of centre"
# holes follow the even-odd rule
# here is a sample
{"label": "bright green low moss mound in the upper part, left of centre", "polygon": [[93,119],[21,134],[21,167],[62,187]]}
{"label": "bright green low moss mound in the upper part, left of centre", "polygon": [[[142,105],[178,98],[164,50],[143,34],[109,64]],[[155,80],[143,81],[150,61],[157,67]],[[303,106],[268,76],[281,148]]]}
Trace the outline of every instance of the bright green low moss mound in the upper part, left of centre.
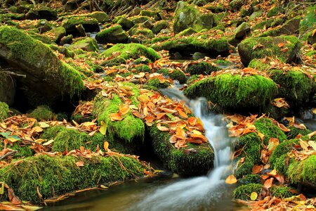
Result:
{"label": "bright green low moss mound in the upper part, left of centre", "polygon": [[140,56],[145,56],[150,60],[154,61],[160,58],[158,53],[154,49],[147,48],[142,44],[116,44],[112,48],[107,49],[100,54],[100,58],[105,58],[112,56],[112,53],[119,53],[119,58],[129,59],[129,58],[140,58]]}

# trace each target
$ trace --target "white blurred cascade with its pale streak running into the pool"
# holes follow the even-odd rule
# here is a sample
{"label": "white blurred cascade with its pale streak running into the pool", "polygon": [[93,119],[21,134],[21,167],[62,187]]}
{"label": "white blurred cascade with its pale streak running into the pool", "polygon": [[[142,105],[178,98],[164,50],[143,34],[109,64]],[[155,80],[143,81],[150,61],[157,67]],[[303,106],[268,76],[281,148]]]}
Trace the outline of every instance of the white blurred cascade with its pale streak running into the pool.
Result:
{"label": "white blurred cascade with its pale streak running into the pool", "polygon": [[231,164],[231,139],[222,116],[208,114],[203,98],[190,101],[178,89],[163,92],[171,98],[185,101],[195,116],[202,120],[205,136],[214,150],[214,169],[207,176],[184,179],[160,188],[130,210],[218,210],[212,206],[217,200],[223,203],[223,195],[229,192],[225,177],[230,173]]}

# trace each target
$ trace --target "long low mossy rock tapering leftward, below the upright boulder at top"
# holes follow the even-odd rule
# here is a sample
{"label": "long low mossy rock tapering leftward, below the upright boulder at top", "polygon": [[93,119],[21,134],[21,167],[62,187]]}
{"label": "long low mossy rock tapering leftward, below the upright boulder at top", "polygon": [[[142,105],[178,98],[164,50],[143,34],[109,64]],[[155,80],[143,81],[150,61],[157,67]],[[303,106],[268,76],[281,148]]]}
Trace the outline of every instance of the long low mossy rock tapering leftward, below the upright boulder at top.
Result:
{"label": "long low mossy rock tapering leftward, below the upright boulder at top", "polygon": [[178,52],[184,56],[190,56],[195,52],[208,53],[209,56],[227,56],[229,54],[228,39],[220,37],[214,39],[212,34],[215,31],[203,32],[195,36],[173,37],[162,44],[152,45],[155,50],[166,50],[169,52]]}

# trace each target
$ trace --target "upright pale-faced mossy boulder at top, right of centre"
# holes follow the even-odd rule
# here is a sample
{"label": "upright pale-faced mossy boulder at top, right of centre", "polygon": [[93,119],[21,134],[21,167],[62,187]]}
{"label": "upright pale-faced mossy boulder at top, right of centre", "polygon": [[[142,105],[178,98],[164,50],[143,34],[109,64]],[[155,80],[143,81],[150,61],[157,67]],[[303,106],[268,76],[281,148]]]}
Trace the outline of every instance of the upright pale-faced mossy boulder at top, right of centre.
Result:
{"label": "upright pale-faced mossy boulder at top, right of centre", "polygon": [[216,26],[213,13],[201,13],[195,5],[179,1],[173,18],[173,32],[175,34],[192,27],[194,30],[211,29]]}

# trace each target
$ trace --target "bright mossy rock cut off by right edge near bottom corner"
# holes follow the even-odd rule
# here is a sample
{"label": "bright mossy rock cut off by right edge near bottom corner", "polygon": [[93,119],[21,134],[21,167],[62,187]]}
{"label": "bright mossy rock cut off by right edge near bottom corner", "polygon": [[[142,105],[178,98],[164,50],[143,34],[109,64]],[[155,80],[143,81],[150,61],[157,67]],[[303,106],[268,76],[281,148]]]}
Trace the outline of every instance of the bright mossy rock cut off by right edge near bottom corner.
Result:
{"label": "bright mossy rock cut off by right edge near bottom corner", "polygon": [[291,162],[287,169],[287,176],[291,183],[302,183],[315,188],[316,155],[311,155],[306,160]]}

